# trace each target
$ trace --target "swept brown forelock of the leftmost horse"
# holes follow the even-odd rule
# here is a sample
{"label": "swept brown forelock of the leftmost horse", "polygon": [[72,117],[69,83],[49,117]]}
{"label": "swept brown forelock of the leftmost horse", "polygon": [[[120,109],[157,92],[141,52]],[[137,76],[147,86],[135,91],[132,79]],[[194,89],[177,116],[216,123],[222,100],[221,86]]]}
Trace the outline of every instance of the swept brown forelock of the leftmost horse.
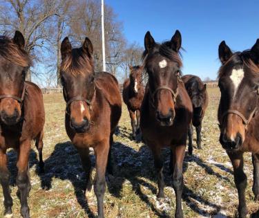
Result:
{"label": "swept brown forelock of the leftmost horse", "polygon": [[29,67],[32,64],[30,55],[6,36],[0,36],[0,56],[19,66]]}

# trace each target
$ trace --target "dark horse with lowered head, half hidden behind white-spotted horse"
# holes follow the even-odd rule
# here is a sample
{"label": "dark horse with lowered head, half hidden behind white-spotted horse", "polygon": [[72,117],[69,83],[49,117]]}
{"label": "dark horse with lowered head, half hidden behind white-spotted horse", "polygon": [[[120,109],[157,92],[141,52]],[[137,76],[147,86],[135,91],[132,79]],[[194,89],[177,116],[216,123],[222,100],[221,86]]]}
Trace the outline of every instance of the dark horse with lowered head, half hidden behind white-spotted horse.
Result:
{"label": "dark horse with lowered head, half hidden behind white-spotted horse", "polygon": [[182,76],[182,81],[184,82],[184,86],[193,104],[192,124],[190,124],[188,129],[188,151],[189,154],[193,154],[193,126],[195,127],[197,133],[197,147],[198,149],[202,149],[200,131],[202,130],[202,120],[209,104],[209,96],[206,89],[206,84],[204,84],[198,76],[184,75]]}

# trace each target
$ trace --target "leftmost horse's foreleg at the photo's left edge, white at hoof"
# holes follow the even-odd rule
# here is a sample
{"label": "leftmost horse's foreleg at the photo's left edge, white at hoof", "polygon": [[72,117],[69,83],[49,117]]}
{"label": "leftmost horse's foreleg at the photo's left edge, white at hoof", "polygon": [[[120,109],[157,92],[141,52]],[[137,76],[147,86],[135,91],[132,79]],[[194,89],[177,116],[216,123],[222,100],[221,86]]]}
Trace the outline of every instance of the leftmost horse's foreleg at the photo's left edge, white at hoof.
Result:
{"label": "leftmost horse's foreleg at the photo's left edge, white at hoof", "polygon": [[12,217],[12,197],[9,188],[10,172],[7,168],[6,151],[0,149],[0,183],[3,188],[3,205],[5,206],[5,217]]}

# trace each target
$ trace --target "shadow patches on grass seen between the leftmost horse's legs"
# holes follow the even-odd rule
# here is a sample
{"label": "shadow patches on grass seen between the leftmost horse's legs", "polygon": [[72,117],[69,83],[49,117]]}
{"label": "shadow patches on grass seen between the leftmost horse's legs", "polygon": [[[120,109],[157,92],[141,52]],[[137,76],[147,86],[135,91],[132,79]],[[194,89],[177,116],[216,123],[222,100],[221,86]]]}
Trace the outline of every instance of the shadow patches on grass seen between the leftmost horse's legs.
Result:
{"label": "shadow patches on grass seen between the leftmost horse's legs", "polygon": [[[10,172],[10,181],[9,185],[15,186],[16,185],[16,177],[18,173],[17,169],[17,152],[14,149],[10,149],[6,155],[8,156],[8,171]],[[29,156],[29,162],[28,167],[32,168],[34,165],[37,165],[36,174],[39,174],[39,167],[38,167],[39,161],[37,159],[37,153],[34,149],[30,149],[30,156]]]}

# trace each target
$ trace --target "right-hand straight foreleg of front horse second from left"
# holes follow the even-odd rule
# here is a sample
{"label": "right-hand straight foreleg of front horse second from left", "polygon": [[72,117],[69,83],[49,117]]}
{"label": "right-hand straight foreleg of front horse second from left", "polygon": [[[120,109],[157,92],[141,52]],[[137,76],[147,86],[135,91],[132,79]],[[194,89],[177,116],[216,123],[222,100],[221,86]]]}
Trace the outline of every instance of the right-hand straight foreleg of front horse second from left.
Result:
{"label": "right-hand straight foreleg of front horse second from left", "polygon": [[96,175],[94,190],[97,197],[98,217],[104,217],[105,171],[109,152],[109,141],[105,140],[95,146]]}

